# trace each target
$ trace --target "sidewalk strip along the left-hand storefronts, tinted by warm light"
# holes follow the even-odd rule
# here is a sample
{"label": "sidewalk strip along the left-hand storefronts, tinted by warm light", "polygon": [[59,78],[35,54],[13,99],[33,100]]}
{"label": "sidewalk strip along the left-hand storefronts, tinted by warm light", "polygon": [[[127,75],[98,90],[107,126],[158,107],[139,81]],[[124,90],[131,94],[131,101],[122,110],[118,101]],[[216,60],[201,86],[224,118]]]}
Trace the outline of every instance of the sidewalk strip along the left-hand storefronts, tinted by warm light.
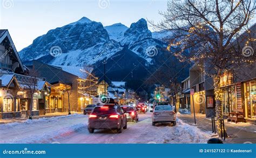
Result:
{"label": "sidewalk strip along the left-hand storefronts, tinted by warm light", "polygon": [[[71,112],[71,114],[82,114],[82,112]],[[32,116],[32,119],[39,119],[39,118],[51,118],[55,116],[64,116],[68,115],[68,112],[58,112],[58,113],[48,113],[45,115],[39,115],[39,116]],[[5,123],[12,123],[12,122],[23,122],[27,120],[28,118],[12,118],[12,119],[0,119],[0,124]]]}

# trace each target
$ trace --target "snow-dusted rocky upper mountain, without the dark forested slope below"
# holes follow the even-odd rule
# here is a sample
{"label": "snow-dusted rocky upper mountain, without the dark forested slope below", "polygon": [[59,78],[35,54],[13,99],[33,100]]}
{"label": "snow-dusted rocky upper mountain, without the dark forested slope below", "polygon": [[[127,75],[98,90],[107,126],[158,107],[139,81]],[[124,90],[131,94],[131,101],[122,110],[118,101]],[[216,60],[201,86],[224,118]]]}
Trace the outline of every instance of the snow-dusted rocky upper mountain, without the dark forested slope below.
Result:
{"label": "snow-dusted rocky upper mountain, without the dark forested slope below", "polygon": [[[150,64],[152,57],[147,55],[148,48],[164,46],[164,43],[152,38],[143,18],[127,28],[121,23],[104,27],[102,23],[83,17],[36,38],[19,52],[19,56],[23,61],[37,59],[48,64],[83,66],[109,59],[128,47]],[[52,48],[56,47],[59,54],[52,57]]]}

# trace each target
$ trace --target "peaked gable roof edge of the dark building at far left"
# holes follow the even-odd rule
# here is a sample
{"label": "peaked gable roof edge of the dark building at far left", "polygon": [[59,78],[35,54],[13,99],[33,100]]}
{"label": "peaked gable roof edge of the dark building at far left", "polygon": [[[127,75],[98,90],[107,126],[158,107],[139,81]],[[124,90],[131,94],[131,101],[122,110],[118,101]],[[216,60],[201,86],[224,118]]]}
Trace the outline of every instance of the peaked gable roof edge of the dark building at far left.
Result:
{"label": "peaked gable roof edge of the dark building at far left", "polygon": [[0,30],[0,43],[2,43],[3,40],[4,40],[6,37],[8,37],[8,39],[9,39],[9,41],[10,41],[10,44],[11,44],[11,46],[12,46],[12,50],[14,50],[14,53],[15,53],[15,56],[16,56],[18,62],[19,62],[19,65],[21,66],[21,68],[22,68],[22,70],[23,70],[23,72],[24,72],[24,71],[25,71],[25,68],[24,68],[24,66],[23,66],[23,64],[22,64],[21,58],[19,58],[19,54],[18,54],[18,52],[17,52],[17,50],[16,50],[16,47],[15,47],[15,45],[14,45],[14,42],[13,42],[12,39],[11,39],[11,36],[10,36],[9,31],[8,31],[8,30]]}

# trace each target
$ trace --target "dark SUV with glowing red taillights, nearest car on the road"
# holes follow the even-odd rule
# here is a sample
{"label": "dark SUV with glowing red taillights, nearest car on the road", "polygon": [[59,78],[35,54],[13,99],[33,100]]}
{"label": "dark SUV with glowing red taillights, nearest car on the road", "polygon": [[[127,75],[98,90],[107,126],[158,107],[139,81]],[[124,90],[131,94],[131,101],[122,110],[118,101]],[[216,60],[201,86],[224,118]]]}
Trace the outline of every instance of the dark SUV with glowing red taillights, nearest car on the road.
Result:
{"label": "dark SUV with glowing red taillights, nearest car on the road", "polygon": [[119,105],[105,104],[96,106],[89,115],[88,130],[93,133],[95,129],[116,129],[122,133],[127,128],[127,118]]}

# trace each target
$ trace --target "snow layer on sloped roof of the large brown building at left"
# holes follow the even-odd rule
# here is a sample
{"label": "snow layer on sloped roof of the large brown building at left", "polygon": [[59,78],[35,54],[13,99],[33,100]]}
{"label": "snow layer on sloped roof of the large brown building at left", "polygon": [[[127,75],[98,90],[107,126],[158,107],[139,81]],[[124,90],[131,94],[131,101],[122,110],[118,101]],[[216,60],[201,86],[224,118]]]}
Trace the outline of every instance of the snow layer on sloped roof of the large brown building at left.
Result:
{"label": "snow layer on sloped roof of the large brown building at left", "polygon": [[[81,67],[81,66],[65,66],[65,65],[52,65],[52,66],[60,67],[60,68],[62,68],[63,71],[66,71],[68,73],[76,75],[79,78],[82,78],[82,79],[87,78],[87,74],[82,71],[84,69],[84,67]],[[89,68],[89,69],[90,69],[90,72],[92,72],[92,68]]]}

